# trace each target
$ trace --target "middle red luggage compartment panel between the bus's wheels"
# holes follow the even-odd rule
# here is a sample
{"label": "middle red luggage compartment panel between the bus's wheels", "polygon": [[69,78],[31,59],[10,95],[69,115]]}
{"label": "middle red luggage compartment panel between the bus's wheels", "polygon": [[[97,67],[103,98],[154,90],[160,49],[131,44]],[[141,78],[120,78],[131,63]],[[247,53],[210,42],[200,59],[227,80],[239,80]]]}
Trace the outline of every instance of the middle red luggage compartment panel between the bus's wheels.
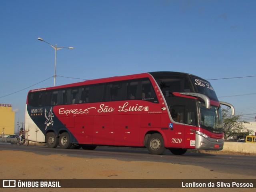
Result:
{"label": "middle red luggage compartment panel between the bus's wheels", "polygon": [[114,117],[112,115],[94,117],[93,144],[114,145]]}

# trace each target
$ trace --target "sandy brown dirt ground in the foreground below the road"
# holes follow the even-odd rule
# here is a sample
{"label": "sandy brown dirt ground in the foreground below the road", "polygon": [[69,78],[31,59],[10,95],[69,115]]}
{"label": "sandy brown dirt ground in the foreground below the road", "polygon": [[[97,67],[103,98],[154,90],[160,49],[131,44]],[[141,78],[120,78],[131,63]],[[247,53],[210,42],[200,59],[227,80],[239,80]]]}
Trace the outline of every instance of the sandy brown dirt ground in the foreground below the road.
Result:
{"label": "sandy brown dirt ground in the foreground below the road", "polygon": [[[38,155],[30,152],[0,151],[0,179],[255,179],[253,176],[219,173],[199,166],[181,164],[90,159],[66,155]],[[37,192],[169,192],[169,191],[255,191],[251,188],[2,188],[0,191]]]}

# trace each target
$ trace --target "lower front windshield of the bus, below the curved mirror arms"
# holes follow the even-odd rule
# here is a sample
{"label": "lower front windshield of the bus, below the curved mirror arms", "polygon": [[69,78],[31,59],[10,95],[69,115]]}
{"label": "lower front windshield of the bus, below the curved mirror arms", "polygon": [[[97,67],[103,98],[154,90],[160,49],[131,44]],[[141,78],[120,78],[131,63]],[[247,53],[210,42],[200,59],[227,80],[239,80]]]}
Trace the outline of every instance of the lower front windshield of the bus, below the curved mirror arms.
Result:
{"label": "lower front windshield of the bus, below the curved mirror arms", "polygon": [[221,107],[211,106],[210,109],[205,108],[203,102],[198,102],[200,110],[200,127],[209,131],[222,131],[222,114]]}

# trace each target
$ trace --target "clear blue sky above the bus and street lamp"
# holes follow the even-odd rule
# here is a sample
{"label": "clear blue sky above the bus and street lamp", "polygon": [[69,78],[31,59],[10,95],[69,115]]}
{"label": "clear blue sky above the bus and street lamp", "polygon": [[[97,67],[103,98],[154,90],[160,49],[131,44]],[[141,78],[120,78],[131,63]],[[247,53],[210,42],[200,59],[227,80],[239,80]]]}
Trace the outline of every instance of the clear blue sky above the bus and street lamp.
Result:
{"label": "clear blue sky above the bus and street lamp", "polygon": [[57,51],[56,86],[152,71],[231,78],[210,82],[255,121],[255,8],[255,0],[1,0],[0,103],[24,122],[28,91],[53,86],[55,50],[40,37],[74,47]]}

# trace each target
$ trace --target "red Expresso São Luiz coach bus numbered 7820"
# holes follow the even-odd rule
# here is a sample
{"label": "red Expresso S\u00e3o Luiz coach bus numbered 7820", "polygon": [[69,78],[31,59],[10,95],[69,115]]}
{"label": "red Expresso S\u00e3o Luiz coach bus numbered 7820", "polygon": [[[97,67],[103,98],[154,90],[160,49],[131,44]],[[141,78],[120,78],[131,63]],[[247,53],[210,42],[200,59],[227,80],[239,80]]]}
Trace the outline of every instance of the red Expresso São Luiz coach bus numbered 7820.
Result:
{"label": "red Expresso S\u00e3o Luiz coach bus numbered 7820", "polygon": [[28,92],[26,139],[50,148],[146,147],[222,150],[220,104],[207,80],[180,72],[149,72],[86,80]]}

